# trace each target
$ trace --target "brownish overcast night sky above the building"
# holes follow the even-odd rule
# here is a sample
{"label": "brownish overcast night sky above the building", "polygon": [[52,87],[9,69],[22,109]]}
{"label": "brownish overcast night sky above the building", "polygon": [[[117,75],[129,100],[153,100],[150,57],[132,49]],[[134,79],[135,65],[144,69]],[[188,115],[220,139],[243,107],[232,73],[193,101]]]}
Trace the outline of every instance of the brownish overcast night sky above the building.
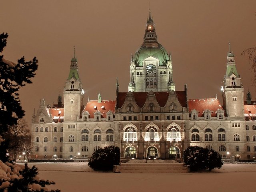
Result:
{"label": "brownish overcast night sky above the building", "polygon": [[[172,54],[176,90],[188,84],[189,98],[215,98],[226,72],[228,42],[245,93],[255,86],[244,49],[256,44],[255,0],[151,0],[158,42]],[[84,104],[115,99],[128,91],[130,57],[143,42],[149,0],[12,0],[1,2],[0,32],[8,32],[4,58],[16,62],[36,56],[39,69],[33,84],[20,90],[26,120],[40,99],[57,103],[68,77],[73,46],[86,91]]]}

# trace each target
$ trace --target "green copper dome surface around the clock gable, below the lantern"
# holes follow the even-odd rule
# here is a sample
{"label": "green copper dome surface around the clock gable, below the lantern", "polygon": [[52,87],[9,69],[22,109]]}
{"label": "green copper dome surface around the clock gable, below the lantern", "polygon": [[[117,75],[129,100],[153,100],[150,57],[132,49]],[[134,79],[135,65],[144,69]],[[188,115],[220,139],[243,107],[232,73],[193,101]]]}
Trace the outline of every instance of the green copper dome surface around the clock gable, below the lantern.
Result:
{"label": "green copper dome surface around the clock gable, below the lantern", "polygon": [[170,60],[165,48],[158,42],[144,42],[136,51],[133,61],[136,66],[143,66],[142,61],[148,57],[154,57],[159,60],[160,66],[166,66]]}

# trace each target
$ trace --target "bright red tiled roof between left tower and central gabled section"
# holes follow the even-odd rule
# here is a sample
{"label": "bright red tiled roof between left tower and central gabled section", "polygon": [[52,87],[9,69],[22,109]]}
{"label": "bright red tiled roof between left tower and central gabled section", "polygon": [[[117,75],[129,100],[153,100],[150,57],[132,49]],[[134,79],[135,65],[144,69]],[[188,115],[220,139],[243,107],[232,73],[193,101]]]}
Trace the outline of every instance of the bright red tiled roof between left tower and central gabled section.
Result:
{"label": "bright red tiled roof between left tower and central gabled section", "polygon": [[[115,100],[102,100],[101,103],[98,103],[98,100],[88,101],[83,112],[88,111],[90,118],[94,118],[94,112],[99,111],[102,114],[101,118],[106,118],[106,114],[109,110],[112,111],[112,113],[115,112],[115,104]],[[94,109],[95,106],[96,109]]]}

